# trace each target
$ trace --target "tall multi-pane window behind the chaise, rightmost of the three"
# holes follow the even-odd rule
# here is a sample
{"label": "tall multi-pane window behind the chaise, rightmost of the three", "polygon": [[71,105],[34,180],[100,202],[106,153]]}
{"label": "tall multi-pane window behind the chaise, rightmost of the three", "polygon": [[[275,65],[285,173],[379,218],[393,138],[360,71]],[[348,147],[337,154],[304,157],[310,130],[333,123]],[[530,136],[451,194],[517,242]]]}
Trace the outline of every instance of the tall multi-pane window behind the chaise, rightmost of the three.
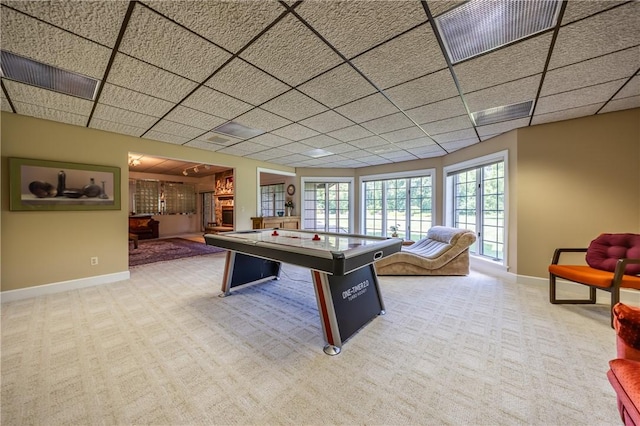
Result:
{"label": "tall multi-pane window behind the chaise, rightmost of the three", "polygon": [[447,224],[476,233],[470,252],[505,260],[506,151],[445,167]]}

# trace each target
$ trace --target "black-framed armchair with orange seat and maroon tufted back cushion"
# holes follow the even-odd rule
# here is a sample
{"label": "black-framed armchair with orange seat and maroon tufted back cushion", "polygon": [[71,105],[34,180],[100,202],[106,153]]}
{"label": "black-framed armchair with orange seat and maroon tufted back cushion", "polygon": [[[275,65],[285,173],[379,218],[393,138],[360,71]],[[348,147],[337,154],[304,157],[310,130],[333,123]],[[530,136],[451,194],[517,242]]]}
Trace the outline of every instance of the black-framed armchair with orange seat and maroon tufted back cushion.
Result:
{"label": "black-framed armchair with orange seat and maroon tufted back cushion", "polygon": [[[586,265],[560,264],[560,255],[584,252]],[[558,299],[556,279],[589,287],[588,299]],[[557,248],[549,265],[549,301],[553,304],[596,303],[596,290],[611,293],[611,308],[620,289],[640,290],[640,234],[600,234],[588,248]],[[613,313],[611,316],[613,327]]]}

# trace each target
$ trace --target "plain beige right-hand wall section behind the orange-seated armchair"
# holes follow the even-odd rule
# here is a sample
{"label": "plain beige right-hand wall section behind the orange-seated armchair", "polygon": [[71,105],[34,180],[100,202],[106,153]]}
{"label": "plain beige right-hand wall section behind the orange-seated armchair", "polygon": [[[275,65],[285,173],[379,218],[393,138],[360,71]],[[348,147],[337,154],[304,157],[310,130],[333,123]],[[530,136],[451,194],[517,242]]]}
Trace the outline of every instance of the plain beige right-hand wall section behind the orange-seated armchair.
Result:
{"label": "plain beige right-hand wall section behind the orange-seated armchair", "polygon": [[556,247],[640,233],[640,109],[518,134],[517,272],[544,277]]}

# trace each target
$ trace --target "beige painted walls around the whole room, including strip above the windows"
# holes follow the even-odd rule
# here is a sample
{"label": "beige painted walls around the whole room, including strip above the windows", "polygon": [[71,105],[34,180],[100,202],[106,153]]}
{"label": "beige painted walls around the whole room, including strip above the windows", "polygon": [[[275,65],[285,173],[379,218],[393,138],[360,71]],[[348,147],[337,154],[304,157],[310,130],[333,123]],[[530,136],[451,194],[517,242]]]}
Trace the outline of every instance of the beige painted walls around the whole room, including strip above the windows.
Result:
{"label": "beige painted walls around the whole room, including strip above the windows", "polygon": [[[351,169],[298,169],[300,176],[359,176],[436,169],[509,150],[510,272],[544,278],[553,249],[586,246],[600,232],[640,233],[640,109],[533,126],[442,158]],[[250,228],[257,211],[257,167],[292,168],[2,113],[2,290],[126,271],[127,153],[224,165],[235,169],[236,221]],[[122,169],[121,211],[10,212],[7,157],[104,164]],[[356,188],[357,189],[357,188]],[[357,212],[359,194],[354,208]],[[442,223],[442,211],[436,212]],[[357,228],[356,228],[357,229]],[[89,258],[98,256],[98,266]]]}

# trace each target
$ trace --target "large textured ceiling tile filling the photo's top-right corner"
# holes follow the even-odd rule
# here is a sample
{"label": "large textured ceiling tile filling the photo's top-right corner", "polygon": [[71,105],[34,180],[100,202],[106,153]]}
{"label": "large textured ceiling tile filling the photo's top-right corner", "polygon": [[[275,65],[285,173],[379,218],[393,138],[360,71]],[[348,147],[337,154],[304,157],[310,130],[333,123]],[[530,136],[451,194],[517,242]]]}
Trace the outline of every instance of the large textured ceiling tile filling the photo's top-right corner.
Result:
{"label": "large textured ceiling tile filling the photo's top-right corner", "polygon": [[636,1],[563,26],[553,48],[549,69],[637,46],[640,40],[638,16],[640,3]]}

